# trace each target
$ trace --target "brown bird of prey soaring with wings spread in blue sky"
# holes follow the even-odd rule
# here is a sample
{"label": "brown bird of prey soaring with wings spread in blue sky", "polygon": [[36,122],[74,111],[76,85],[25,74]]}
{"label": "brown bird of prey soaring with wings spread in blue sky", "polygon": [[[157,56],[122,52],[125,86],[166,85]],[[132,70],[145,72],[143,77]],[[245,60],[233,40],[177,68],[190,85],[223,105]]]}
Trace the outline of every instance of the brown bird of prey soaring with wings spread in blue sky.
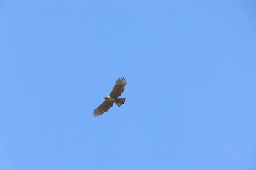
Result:
{"label": "brown bird of prey soaring with wings spread in blue sky", "polygon": [[118,107],[124,104],[126,98],[118,98],[123,93],[127,80],[124,77],[118,78],[109,96],[104,97],[105,101],[94,109],[94,116],[99,117],[107,112],[115,103]]}

